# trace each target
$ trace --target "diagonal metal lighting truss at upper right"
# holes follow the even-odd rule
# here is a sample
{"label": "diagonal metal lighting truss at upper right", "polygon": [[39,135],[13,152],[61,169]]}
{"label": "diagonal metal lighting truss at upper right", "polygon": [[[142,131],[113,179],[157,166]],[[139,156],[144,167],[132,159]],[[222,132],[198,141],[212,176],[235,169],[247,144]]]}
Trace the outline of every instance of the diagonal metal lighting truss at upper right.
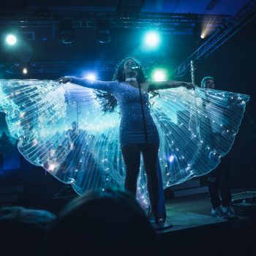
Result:
{"label": "diagonal metal lighting truss at upper right", "polygon": [[217,50],[228,39],[240,31],[250,20],[256,17],[256,0],[248,1],[236,15],[227,22],[225,26],[219,28],[209,39],[203,43],[192,55],[187,58],[174,70],[174,77],[181,78],[187,74],[190,68],[190,61],[194,61],[195,66],[204,58]]}

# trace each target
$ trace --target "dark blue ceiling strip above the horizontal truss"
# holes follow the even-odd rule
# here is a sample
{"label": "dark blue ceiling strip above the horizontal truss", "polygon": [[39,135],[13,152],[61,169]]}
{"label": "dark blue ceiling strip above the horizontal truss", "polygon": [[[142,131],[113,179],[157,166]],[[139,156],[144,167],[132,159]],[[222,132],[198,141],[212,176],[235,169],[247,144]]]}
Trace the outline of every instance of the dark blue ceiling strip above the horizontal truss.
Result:
{"label": "dark blue ceiling strip above the horizontal truss", "polygon": [[[234,15],[248,0],[1,0],[2,10]],[[231,4],[232,3],[232,4]]]}

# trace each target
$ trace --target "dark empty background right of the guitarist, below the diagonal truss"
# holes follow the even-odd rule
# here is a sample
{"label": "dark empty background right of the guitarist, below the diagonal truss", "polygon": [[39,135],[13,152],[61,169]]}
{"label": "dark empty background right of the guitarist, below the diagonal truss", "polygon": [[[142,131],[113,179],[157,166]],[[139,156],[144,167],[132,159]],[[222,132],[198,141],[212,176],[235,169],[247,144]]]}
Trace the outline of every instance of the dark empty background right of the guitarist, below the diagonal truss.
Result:
{"label": "dark empty background right of the guitarist, below the diagonal truss", "polygon": [[256,20],[252,20],[216,52],[204,59],[196,72],[200,78],[211,75],[217,89],[249,94],[246,113],[230,151],[231,187],[256,186]]}

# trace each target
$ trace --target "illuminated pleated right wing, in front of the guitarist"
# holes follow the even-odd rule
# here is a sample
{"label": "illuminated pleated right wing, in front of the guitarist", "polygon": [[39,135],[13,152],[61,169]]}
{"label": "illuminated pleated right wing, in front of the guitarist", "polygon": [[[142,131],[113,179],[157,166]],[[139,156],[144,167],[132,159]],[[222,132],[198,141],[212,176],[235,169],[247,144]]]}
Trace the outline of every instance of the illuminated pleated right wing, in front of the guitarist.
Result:
{"label": "illuminated pleated right wing, in front of the guitarist", "polygon": [[159,91],[151,114],[160,136],[164,187],[202,176],[230,151],[249,96],[210,89]]}

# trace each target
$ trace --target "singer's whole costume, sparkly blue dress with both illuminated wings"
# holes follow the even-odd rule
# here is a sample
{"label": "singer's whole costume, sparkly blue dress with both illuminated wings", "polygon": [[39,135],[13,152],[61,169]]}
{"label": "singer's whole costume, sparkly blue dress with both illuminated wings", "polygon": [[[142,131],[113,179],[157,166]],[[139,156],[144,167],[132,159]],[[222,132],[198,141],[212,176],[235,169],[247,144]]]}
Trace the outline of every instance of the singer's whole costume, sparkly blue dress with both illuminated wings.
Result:
{"label": "singer's whole costume, sparkly blue dress with both illuminated wings", "polygon": [[[144,140],[138,89],[116,81],[73,82],[83,86],[0,80],[0,111],[6,113],[10,134],[29,162],[72,184],[79,194],[92,188],[123,188],[120,144]],[[119,109],[104,113],[94,89],[113,94]],[[165,188],[217,167],[233,145],[248,101],[244,94],[177,88],[159,90],[148,105],[143,92],[148,139],[160,141]],[[138,197],[145,195],[146,175],[140,172]]]}

